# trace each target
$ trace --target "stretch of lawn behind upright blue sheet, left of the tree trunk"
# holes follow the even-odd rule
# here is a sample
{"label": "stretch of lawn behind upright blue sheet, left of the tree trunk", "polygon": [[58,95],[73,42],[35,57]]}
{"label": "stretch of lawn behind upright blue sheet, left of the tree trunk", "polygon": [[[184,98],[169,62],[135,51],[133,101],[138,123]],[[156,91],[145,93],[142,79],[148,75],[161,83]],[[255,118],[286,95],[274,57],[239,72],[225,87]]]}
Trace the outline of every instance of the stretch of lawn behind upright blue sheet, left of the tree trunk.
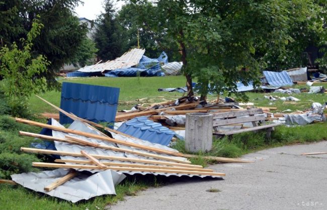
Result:
{"label": "stretch of lawn behind upright blue sheet, left of the tree trunk", "polygon": [[[119,87],[119,106],[118,110],[131,109],[135,104],[150,104],[179,98],[183,93],[179,92],[159,92],[158,88],[183,87],[185,86],[184,76],[164,76],[164,77],[89,77],[89,78],[68,78],[60,77],[59,82],[75,82],[83,84],[103,85]],[[59,91],[49,91],[40,94],[41,97],[49,102],[60,106]],[[141,101],[138,101],[142,99]],[[146,106],[145,104],[145,106]],[[29,107],[36,113],[55,112],[46,103],[40,101],[36,96],[32,96],[29,101]]]}

